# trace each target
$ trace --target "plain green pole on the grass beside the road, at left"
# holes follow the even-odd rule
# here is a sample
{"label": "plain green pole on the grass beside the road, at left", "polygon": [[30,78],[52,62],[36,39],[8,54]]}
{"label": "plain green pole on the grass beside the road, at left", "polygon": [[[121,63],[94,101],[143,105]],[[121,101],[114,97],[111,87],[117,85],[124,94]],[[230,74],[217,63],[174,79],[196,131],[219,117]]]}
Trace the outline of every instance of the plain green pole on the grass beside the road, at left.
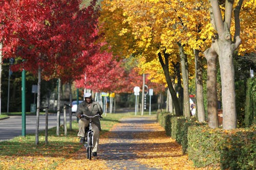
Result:
{"label": "plain green pole on the grass beside the road, at left", "polygon": [[26,71],[22,70],[22,136],[26,136]]}

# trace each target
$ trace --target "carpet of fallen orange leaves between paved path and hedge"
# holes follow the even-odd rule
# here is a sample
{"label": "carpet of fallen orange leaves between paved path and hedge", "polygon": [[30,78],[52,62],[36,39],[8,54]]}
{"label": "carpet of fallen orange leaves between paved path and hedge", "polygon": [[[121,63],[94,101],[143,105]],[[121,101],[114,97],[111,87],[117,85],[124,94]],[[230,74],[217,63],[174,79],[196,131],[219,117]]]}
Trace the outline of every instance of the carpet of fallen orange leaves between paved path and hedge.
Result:
{"label": "carpet of fallen orange leaves between paved path and hedge", "polygon": [[174,139],[165,134],[164,128],[158,123],[141,124],[138,128],[148,129],[148,132],[134,133],[135,143],[141,143],[133,148],[140,163],[163,169],[211,169],[211,167],[194,167],[188,156],[183,155],[182,147]]}

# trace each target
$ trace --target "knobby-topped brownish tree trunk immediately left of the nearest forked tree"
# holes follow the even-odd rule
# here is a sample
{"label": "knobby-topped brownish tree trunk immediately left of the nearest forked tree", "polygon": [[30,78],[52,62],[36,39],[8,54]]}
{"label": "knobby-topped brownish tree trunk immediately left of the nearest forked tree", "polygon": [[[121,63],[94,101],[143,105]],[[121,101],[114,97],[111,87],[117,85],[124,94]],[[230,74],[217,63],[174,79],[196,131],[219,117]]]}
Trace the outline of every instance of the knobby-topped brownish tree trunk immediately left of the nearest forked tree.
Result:
{"label": "knobby-topped brownish tree trunk immediately left of the nearest forked tree", "polygon": [[207,60],[207,112],[208,125],[211,128],[219,127],[217,110],[217,53],[212,48],[204,52]]}

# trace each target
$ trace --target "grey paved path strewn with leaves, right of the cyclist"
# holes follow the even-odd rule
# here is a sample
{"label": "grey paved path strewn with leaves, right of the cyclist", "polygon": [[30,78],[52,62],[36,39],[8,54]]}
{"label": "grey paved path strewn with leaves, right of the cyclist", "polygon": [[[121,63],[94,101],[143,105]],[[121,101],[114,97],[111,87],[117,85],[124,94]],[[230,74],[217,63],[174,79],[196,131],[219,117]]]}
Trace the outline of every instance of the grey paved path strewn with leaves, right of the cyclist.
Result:
{"label": "grey paved path strewn with leaves, right of the cyclist", "polygon": [[155,123],[155,117],[134,117],[125,118],[110,132],[110,142],[100,144],[99,157],[106,161],[111,169],[129,170],[157,170],[140,164],[136,161],[136,154],[133,149],[136,147],[136,140],[133,135],[153,131],[154,129],[143,129],[143,124]]}

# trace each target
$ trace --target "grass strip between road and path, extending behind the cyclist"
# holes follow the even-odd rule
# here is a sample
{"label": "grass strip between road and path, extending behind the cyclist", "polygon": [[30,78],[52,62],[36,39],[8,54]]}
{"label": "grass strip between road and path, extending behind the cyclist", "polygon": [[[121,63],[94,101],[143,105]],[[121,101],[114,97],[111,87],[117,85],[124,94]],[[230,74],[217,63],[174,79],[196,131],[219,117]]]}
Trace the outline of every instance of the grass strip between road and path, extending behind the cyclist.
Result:
{"label": "grass strip between road and path, extending behind the cyclist", "polygon": [[[145,114],[148,115],[148,114]],[[108,132],[122,117],[131,117],[134,113],[107,113],[101,119],[102,131]],[[140,116],[140,115],[137,115]],[[56,135],[56,127],[48,131],[48,144],[45,143],[45,131],[39,133],[39,144],[35,144],[35,135],[15,137],[0,142],[0,169],[55,169],[58,164],[73,158],[81,149],[77,137],[77,123],[72,123],[72,130],[64,135],[63,126],[60,135]]]}

